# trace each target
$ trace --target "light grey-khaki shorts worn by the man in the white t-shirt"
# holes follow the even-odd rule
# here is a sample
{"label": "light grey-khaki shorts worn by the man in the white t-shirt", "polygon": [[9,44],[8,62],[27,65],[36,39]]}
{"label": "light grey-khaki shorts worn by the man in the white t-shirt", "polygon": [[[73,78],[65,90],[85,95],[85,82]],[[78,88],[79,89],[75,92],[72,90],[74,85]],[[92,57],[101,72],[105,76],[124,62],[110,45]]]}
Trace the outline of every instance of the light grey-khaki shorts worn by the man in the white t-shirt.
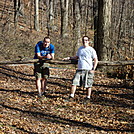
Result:
{"label": "light grey-khaki shorts worn by the man in the white t-shirt", "polygon": [[90,73],[88,70],[76,70],[72,85],[83,86],[84,88],[92,87],[93,78],[94,73]]}

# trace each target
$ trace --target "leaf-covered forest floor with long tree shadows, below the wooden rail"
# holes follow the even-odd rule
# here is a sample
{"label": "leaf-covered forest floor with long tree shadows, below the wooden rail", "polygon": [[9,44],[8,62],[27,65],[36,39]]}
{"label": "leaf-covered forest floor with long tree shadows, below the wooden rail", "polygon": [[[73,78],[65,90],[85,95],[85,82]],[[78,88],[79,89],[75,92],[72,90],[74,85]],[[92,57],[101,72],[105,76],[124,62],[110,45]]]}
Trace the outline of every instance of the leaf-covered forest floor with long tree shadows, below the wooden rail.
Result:
{"label": "leaf-covered forest floor with long tree shadows, below the wooden rail", "polygon": [[92,99],[78,88],[67,101],[74,69],[51,68],[45,96],[38,97],[33,66],[0,66],[0,134],[132,134],[133,89],[96,72]]}

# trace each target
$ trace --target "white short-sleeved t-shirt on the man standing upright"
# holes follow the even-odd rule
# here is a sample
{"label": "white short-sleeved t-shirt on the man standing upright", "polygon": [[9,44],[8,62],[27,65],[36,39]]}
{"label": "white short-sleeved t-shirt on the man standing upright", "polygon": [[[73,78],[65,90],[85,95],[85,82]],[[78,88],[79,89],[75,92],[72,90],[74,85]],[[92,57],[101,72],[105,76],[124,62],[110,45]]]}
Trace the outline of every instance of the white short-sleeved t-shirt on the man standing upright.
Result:
{"label": "white short-sleeved t-shirt on the man standing upright", "polygon": [[78,69],[92,70],[93,69],[93,59],[97,58],[97,54],[94,48],[91,46],[84,47],[81,46],[76,54],[78,59]]}

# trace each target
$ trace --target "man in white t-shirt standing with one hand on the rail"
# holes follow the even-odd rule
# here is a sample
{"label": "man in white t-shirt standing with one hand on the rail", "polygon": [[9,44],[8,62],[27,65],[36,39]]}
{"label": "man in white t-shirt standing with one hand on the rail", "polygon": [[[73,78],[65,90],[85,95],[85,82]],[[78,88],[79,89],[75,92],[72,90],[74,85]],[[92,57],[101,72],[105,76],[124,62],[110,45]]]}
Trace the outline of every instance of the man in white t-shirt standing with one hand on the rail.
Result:
{"label": "man in white t-shirt standing with one hand on the rail", "polygon": [[80,86],[80,80],[82,79],[82,85],[87,89],[86,99],[90,99],[94,71],[98,64],[98,58],[95,49],[89,46],[89,37],[84,36],[82,42],[83,46],[78,49],[76,56],[67,57],[64,58],[64,60],[78,59],[78,69],[72,81],[70,98],[74,98],[76,87]]}

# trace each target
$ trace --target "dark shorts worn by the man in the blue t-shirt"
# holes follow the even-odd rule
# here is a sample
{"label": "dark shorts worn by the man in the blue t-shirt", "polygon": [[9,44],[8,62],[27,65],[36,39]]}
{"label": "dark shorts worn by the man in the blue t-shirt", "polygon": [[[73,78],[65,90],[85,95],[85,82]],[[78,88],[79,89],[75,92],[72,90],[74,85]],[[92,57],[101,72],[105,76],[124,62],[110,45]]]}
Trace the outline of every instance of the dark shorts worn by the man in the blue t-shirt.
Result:
{"label": "dark shorts worn by the man in the blue t-shirt", "polygon": [[50,74],[49,71],[49,64],[48,63],[41,63],[37,62],[34,63],[34,75],[36,79],[38,78],[48,78]]}

